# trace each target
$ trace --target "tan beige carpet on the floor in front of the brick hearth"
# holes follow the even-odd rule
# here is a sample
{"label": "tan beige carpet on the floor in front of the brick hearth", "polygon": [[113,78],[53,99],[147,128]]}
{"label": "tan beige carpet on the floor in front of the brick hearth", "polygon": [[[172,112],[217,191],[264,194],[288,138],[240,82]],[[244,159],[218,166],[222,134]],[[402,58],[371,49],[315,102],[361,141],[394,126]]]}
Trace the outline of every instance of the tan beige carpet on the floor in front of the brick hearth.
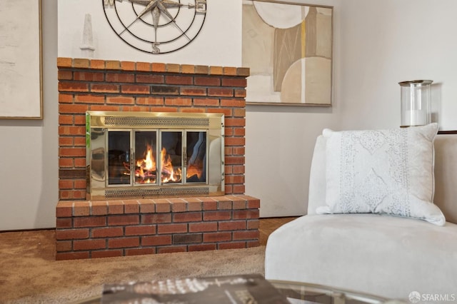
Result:
{"label": "tan beige carpet on the floor in front of the brick hearth", "polygon": [[265,247],[56,261],[54,230],[0,233],[0,303],[73,303],[104,283],[264,274]]}

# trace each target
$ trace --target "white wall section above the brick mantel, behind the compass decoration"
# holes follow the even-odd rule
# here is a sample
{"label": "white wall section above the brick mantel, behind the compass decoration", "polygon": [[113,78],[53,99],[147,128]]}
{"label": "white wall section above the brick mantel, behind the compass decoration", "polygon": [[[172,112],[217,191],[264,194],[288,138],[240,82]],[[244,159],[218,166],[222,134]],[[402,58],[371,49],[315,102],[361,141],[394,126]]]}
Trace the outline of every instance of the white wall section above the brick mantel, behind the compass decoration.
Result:
{"label": "white wall section above the brick mantel, behind the compass decoration", "polygon": [[170,54],[152,55],[121,41],[106,21],[102,2],[59,0],[59,57],[81,58],[84,17],[91,14],[94,59],[239,66],[241,0],[209,0],[204,26],[189,45]]}

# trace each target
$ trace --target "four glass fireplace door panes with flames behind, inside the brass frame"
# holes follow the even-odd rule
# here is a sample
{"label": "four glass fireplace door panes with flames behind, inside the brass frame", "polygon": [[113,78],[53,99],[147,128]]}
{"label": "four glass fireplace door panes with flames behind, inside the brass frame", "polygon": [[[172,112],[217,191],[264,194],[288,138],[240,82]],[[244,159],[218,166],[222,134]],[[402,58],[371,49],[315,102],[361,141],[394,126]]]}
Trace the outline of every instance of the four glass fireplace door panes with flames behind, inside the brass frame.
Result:
{"label": "four glass fireplace door panes with flames behind, inside the brass frame", "polygon": [[206,183],[206,131],[109,130],[108,134],[107,186]]}

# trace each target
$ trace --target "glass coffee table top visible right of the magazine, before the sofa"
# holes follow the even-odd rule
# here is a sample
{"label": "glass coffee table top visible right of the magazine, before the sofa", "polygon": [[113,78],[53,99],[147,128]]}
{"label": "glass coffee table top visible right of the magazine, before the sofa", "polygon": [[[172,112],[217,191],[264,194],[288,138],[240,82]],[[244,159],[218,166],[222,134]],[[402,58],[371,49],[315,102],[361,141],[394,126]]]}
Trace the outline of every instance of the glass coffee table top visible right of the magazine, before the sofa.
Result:
{"label": "glass coffee table top visible right of the magazine, before the sofa", "polygon": [[268,280],[291,304],[405,304],[403,300],[391,300],[377,295],[358,293],[352,290],[331,288],[311,283]]}

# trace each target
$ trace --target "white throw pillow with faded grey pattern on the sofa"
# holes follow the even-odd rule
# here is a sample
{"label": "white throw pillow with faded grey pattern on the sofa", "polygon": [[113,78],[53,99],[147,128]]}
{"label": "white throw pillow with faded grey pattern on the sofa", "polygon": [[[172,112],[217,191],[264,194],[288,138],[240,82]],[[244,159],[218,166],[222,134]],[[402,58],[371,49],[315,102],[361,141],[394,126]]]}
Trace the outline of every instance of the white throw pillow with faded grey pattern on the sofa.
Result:
{"label": "white throw pillow with faded grey pattern on the sofa", "polygon": [[316,213],[384,213],[443,226],[433,204],[438,124],[391,130],[323,130],[326,206]]}

